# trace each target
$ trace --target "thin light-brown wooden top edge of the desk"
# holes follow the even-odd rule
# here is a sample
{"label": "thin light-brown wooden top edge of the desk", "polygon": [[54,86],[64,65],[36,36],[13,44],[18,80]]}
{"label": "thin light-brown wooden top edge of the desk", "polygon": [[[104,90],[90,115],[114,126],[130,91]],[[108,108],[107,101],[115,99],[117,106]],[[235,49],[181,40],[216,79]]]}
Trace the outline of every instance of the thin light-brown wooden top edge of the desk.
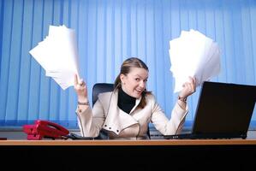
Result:
{"label": "thin light-brown wooden top edge of the desk", "polygon": [[256,139],[161,139],[161,140],[2,140],[0,145],[82,145],[82,146],[181,146],[181,145],[255,145]]}

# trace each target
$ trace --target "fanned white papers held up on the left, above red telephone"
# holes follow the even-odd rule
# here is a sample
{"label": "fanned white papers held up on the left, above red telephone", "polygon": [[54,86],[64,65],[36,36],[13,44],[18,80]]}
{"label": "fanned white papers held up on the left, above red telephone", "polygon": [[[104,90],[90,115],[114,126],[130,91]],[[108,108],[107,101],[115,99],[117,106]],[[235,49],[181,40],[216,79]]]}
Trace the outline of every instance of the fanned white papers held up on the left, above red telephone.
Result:
{"label": "fanned white papers held up on the left, above red telephone", "polygon": [[74,85],[74,74],[79,75],[79,65],[73,29],[50,26],[48,36],[29,53],[45,69],[45,75],[55,80],[63,90]]}

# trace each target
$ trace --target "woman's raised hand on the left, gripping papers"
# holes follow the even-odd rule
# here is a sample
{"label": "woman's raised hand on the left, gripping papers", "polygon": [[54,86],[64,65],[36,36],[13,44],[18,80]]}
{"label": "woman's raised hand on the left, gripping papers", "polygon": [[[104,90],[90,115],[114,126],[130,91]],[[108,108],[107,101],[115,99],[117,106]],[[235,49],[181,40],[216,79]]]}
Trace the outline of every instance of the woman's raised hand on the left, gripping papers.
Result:
{"label": "woman's raised hand on the left, gripping papers", "polygon": [[76,74],[74,75],[74,91],[76,91],[79,102],[88,102],[86,83],[83,80],[79,80]]}

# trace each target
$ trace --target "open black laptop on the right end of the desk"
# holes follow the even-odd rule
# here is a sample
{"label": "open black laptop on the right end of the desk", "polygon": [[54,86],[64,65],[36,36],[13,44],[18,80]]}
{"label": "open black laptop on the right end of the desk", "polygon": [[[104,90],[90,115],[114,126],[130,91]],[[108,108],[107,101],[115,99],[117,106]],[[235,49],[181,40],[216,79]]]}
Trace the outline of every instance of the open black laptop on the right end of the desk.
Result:
{"label": "open black laptop on the right end of the desk", "polygon": [[255,101],[255,85],[205,81],[191,133],[164,139],[246,139]]}

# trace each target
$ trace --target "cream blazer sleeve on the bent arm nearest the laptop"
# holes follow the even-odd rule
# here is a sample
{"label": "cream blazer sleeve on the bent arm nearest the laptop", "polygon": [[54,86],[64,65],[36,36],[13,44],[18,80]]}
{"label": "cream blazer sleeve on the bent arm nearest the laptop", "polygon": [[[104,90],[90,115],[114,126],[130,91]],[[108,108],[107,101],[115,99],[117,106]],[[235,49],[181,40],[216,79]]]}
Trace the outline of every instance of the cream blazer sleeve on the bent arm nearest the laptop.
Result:
{"label": "cream blazer sleeve on the bent arm nearest the laptop", "polygon": [[164,114],[164,111],[158,105],[158,103],[155,100],[153,100],[152,102],[152,124],[160,133],[164,135],[181,133],[187,114],[188,105],[186,106],[186,110],[184,110],[180,107],[178,103],[176,103],[176,105],[172,109],[169,120]]}

